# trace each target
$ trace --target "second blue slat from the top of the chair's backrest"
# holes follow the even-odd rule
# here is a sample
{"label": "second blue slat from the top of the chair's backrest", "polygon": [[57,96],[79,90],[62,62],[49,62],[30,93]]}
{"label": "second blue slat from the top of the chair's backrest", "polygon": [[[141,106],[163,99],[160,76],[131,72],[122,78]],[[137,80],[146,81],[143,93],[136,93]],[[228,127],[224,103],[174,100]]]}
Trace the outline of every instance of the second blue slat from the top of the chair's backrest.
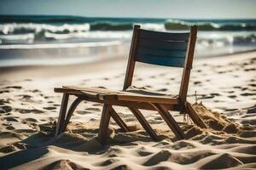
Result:
{"label": "second blue slat from the top of the chair's backrest", "polygon": [[138,48],[154,48],[161,50],[186,50],[188,42],[163,42],[163,41],[152,41],[149,39],[139,39]]}

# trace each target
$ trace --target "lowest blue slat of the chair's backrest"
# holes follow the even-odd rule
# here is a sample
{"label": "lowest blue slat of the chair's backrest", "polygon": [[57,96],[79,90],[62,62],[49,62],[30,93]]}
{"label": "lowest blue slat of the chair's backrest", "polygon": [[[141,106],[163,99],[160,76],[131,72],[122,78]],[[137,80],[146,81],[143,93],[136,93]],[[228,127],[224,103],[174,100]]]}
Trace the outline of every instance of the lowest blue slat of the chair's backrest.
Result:
{"label": "lowest blue slat of the chair's backrest", "polygon": [[183,58],[159,57],[159,56],[148,55],[148,54],[137,54],[136,60],[142,63],[148,63],[152,65],[164,65],[164,66],[173,66],[173,67],[184,66]]}

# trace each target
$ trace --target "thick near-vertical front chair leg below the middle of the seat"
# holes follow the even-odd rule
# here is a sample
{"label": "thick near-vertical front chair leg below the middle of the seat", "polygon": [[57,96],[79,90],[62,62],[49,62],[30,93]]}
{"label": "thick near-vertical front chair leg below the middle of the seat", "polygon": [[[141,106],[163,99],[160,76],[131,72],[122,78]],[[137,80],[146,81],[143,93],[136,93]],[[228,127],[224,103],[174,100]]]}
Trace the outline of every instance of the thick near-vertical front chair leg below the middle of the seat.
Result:
{"label": "thick near-vertical front chair leg below the middle of the seat", "polygon": [[110,120],[110,108],[111,105],[104,104],[102,109],[102,118],[98,133],[98,139],[102,144],[106,143],[108,138],[108,125]]}

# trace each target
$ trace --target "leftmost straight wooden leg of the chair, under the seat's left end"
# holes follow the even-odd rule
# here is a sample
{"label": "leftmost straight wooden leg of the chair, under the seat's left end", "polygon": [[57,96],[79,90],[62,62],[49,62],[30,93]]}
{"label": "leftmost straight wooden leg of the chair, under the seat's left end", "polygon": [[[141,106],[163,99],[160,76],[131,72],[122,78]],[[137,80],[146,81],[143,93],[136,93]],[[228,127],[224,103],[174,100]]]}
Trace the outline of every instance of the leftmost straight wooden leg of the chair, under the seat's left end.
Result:
{"label": "leftmost straight wooden leg of the chair, under the seat's left end", "polygon": [[68,97],[69,97],[69,94],[65,94],[65,93],[63,94],[62,101],[61,101],[60,114],[59,114],[58,122],[56,125],[56,129],[55,129],[55,136],[61,133],[62,123],[65,120],[65,116],[67,112]]}

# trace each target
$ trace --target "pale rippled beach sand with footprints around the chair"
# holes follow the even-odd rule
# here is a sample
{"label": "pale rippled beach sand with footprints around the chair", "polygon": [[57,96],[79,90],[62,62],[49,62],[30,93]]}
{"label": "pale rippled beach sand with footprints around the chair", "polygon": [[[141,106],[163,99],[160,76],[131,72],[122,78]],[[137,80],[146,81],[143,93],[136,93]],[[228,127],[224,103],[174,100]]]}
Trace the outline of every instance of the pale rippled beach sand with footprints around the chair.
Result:
{"label": "pale rippled beach sand with footprints around the chair", "polygon": [[[62,85],[121,89],[126,59],[83,65],[1,69],[1,169],[255,169],[256,52],[196,59],[189,102],[207,124],[196,127],[172,112],[188,139],[177,140],[154,111],[143,111],[161,141],[154,142],[125,108],[115,107],[135,131],[111,122],[108,144],[97,142],[102,105],[82,102],[66,133],[54,138]],[[181,70],[138,64],[134,85],[177,94]],[[196,97],[195,97],[196,91]],[[70,102],[74,98],[70,99]],[[186,117],[185,117],[186,118]]]}

